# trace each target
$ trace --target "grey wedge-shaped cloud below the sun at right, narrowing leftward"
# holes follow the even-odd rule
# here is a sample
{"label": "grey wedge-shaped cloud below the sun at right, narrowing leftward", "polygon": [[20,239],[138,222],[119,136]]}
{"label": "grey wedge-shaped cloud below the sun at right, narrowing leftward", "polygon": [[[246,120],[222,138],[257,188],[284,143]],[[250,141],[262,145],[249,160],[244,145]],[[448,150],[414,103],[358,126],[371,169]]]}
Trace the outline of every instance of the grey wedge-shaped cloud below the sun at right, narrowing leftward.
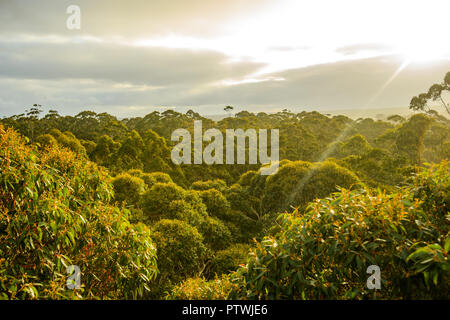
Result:
{"label": "grey wedge-shaped cloud below the sun at right, narrowing leftward", "polygon": [[265,81],[217,88],[191,97],[197,104],[288,107],[316,110],[408,107],[411,98],[442,81],[450,60],[411,64],[380,92],[402,65],[400,57],[378,57],[316,65],[274,73],[284,81]]}

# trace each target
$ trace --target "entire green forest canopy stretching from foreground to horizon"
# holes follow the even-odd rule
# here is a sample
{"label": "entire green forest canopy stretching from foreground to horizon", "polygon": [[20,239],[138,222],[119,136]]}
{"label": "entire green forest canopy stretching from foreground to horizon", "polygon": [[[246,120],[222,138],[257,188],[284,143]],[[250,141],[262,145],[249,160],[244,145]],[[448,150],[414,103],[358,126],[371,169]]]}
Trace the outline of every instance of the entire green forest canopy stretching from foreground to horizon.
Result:
{"label": "entire green forest canopy stretching from foreground to horizon", "polygon": [[[196,120],[279,129],[279,170],[174,164],[171,133]],[[213,121],[34,105],[0,120],[0,297],[448,298],[449,155],[437,113]],[[365,287],[373,264],[385,290]]]}

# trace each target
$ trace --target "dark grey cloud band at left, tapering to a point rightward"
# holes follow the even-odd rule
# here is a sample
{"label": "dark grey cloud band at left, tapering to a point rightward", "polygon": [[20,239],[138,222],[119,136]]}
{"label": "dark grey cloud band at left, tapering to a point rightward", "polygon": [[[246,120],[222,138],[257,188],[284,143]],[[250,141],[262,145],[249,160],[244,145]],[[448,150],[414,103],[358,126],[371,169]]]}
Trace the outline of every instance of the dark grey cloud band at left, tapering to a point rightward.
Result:
{"label": "dark grey cloud band at left, tapering to a point rightward", "polygon": [[241,79],[263,67],[229,62],[205,50],[133,47],[111,43],[0,42],[0,76],[23,79],[97,79],[150,86],[198,85]]}

